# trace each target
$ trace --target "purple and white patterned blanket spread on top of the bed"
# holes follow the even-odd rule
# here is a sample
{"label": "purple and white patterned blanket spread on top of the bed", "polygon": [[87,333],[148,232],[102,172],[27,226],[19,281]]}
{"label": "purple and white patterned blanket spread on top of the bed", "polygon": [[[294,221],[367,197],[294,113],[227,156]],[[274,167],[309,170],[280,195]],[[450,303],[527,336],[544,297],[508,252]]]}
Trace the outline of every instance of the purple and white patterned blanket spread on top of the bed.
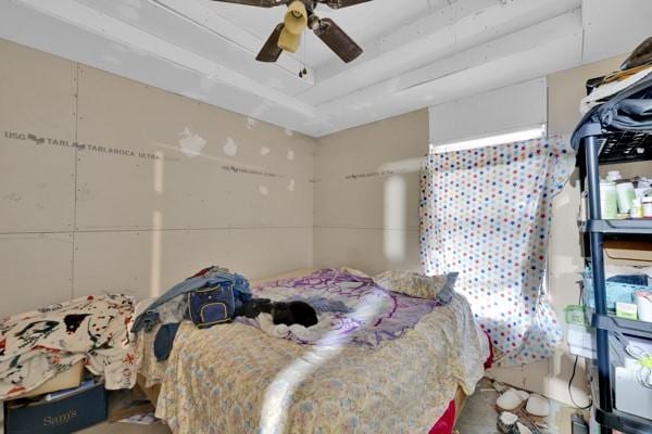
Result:
{"label": "purple and white patterned blanket spread on top of the bed", "polygon": [[[319,322],[311,328],[275,326],[268,315],[239,319],[271,335],[300,344],[377,347],[401,337],[440,303],[414,298],[377,286],[371,278],[323,269],[298,278],[253,288],[255,297],[274,302],[319,301]],[[314,305],[314,302],[312,303]],[[331,308],[328,308],[331,306]],[[326,310],[326,311],[325,311]]]}

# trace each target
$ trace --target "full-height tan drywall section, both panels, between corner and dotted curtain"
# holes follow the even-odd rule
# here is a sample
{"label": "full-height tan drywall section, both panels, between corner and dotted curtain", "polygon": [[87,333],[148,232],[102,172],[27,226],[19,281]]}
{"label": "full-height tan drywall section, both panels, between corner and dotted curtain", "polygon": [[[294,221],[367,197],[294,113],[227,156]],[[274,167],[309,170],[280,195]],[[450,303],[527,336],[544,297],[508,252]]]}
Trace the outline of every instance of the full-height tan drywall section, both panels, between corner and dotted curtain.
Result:
{"label": "full-height tan drywall section, both panels, between corner and dotted curtain", "polygon": [[319,139],[316,267],[419,268],[418,167],[427,152],[427,110]]}

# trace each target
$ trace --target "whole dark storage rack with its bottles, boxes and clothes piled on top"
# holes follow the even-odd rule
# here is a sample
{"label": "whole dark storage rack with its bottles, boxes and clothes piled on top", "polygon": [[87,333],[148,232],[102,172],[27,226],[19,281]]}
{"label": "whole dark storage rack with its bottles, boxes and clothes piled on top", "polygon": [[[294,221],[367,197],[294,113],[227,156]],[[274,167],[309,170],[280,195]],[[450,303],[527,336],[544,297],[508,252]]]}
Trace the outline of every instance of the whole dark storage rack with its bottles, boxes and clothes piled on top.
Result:
{"label": "whole dark storage rack with its bottles, boxes and clothes piled on top", "polygon": [[[634,51],[620,71],[614,73],[616,77],[630,73],[629,61],[640,55],[644,43]],[[643,65],[652,66],[652,62]],[[612,75],[590,79],[587,93],[593,94],[613,78]],[[637,320],[650,318],[647,304],[651,293],[647,278],[650,273],[607,276],[607,267],[615,267],[622,260],[652,260],[652,248],[638,250],[632,244],[650,244],[652,202],[649,189],[652,183],[645,178],[623,179],[619,170],[610,170],[601,179],[600,173],[601,165],[652,159],[651,95],[652,75],[647,75],[587,107],[570,137],[577,153],[581,190],[587,194],[587,220],[579,224],[579,229],[584,233],[584,255],[590,265],[585,273],[585,290],[591,297],[588,305],[593,311],[585,314],[593,326],[591,339],[595,358],[588,373],[600,434],[612,434],[615,430],[626,434],[652,434],[652,375],[648,372],[652,322]],[[582,103],[598,101],[593,98]],[[610,242],[620,243],[625,257],[614,260],[614,247],[609,245]],[[644,281],[641,276],[645,276]],[[627,343],[614,347],[615,341]]]}

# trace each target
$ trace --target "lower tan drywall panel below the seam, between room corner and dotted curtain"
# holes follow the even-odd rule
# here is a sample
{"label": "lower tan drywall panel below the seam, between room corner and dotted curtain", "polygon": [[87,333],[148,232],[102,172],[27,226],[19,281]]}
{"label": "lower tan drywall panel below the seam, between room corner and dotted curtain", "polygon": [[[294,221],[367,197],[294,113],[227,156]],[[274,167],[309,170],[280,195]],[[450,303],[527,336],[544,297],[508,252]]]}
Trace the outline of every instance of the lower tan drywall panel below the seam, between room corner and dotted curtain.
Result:
{"label": "lower tan drywall panel below the seam, between room corner and dotted curtain", "polygon": [[418,271],[418,231],[315,228],[315,268],[349,266],[367,273]]}

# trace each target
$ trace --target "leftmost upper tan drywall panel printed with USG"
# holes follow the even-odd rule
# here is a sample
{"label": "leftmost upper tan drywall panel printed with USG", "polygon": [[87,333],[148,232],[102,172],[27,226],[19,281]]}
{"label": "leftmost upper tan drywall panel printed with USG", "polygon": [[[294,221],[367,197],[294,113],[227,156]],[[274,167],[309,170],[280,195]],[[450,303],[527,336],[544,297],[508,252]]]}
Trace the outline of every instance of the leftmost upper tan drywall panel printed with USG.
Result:
{"label": "leftmost upper tan drywall panel printed with USG", "polygon": [[0,40],[0,232],[70,231],[76,65]]}

